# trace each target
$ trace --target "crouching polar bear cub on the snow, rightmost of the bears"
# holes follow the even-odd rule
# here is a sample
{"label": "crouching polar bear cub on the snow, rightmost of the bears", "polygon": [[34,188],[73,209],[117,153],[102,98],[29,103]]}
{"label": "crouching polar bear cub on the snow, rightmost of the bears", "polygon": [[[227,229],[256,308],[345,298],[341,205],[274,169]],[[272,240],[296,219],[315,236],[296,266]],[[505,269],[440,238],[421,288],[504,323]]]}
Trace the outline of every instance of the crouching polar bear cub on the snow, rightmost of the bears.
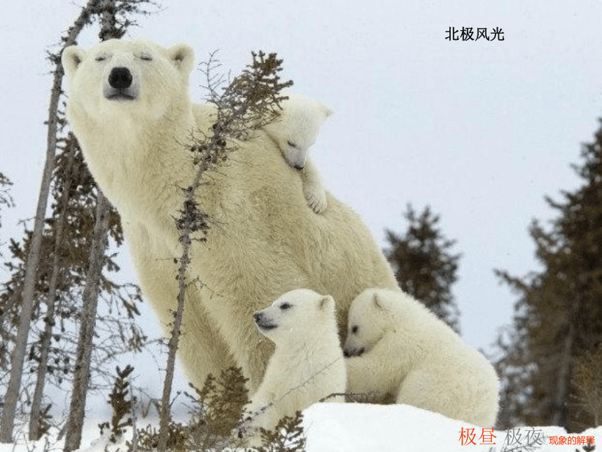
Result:
{"label": "crouching polar bear cub on the snow, rightmost of the bears", "polygon": [[482,427],[498,412],[496,371],[426,306],[400,290],[366,289],[349,309],[347,390]]}

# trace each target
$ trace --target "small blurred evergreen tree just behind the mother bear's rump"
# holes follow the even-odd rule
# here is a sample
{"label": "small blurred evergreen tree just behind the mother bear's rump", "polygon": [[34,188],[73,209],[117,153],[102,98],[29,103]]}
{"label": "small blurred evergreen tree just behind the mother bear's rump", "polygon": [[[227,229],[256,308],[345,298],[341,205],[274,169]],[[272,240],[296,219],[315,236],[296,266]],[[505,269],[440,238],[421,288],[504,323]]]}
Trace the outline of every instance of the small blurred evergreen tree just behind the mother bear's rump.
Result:
{"label": "small blurred evergreen tree just behind the mother bear's rump", "polygon": [[408,222],[404,235],[386,230],[389,247],[384,254],[393,266],[395,279],[405,292],[459,332],[459,310],[451,293],[461,256],[451,254],[456,241],[444,237],[438,227],[439,216],[428,206],[417,215],[412,205],[407,205],[404,217]]}

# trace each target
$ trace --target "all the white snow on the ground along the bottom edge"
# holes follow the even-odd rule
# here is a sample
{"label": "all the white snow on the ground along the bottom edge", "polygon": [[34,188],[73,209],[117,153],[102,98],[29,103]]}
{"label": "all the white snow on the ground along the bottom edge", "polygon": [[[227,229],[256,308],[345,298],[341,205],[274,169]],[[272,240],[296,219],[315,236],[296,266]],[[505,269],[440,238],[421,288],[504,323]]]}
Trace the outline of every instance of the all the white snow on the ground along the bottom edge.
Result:
{"label": "all the white snow on the ground along the bottom edge", "polygon": [[[101,437],[98,424],[102,421],[87,419],[80,452],[102,452],[107,445],[109,451],[125,450],[126,438],[118,444],[110,444],[108,434]],[[148,420],[140,419],[139,425],[146,422]],[[482,427],[409,405],[314,404],[304,411],[303,423],[307,452],[502,452],[505,446],[509,449],[519,446],[516,442],[508,445],[512,432],[507,434],[503,430],[494,430],[491,441],[486,441],[482,437]],[[475,444],[463,445],[460,440],[462,431],[474,433]],[[519,438],[521,446],[527,446],[526,437],[533,437],[533,432],[540,435],[540,444],[533,446],[533,451],[540,452],[582,451],[581,445],[549,444],[552,436],[589,436],[594,437],[594,444],[596,439],[602,438],[602,426],[579,434],[567,434],[561,427],[554,426],[517,427],[514,437]],[[485,429],[485,437],[486,434]],[[130,435],[128,432],[125,436],[129,439]],[[62,446],[63,441],[57,442],[55,435],[34,443],[26,441],[25,433],[21,432],[17,444],[0,444],[0,452],[62,451]]]}

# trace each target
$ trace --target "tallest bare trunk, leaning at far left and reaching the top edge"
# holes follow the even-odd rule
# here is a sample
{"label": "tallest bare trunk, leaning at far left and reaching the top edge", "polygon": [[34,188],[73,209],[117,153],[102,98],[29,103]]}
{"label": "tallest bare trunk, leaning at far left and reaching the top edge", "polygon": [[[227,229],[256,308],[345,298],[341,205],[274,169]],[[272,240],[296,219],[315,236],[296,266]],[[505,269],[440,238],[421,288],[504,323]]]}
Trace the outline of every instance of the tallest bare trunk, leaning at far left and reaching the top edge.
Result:
{"label": "tallest bare trunk, leaning at far left and reaching the top edge", "polygon": [[[66,38],[63,41],[63,48],[75,43],[76,38],[83,27],[90,20],[90,10],[97,3],[97,0],[90,0],[87,6],[82,10],[76,22],[69,29]],[[2,410],[2,419],[0,421],[0,442],[10,443],[13,437],[13,427],[15,425],[15,411],[21,388],[21,378],[23,373],[23,363],[25,362],[25,351],[27,349],[27,338],[29,337],[29,322],[34,305],[34,289],[36,282],[36,273],[40,261],[40,249],[42,245],[42,233],[44,228],[44,217],[46,205],[48,205],[48,195],[50,193],[50,180],[52,179],[52,170],[55,163],[55,152],[57,149],[57,111],[59,98],[61,95],[62,79],[64,75],[63,67],[60,63],[60,55],[52,55],[51,60],[55,62],[54,78],[52,81],[52,91],[50,93],[50,106],[48,107],[48,139],[46,147],[46,161],[40,194],[38,196],[38,207],[36,208],[36,217],[34,223],[34,233],[31,238],[29,254],[27,254],[27,264],[25,269],[25,285],[22,292],[21,317],[15,349],[10,363],[10,380],[4,397],[4,406]]]}

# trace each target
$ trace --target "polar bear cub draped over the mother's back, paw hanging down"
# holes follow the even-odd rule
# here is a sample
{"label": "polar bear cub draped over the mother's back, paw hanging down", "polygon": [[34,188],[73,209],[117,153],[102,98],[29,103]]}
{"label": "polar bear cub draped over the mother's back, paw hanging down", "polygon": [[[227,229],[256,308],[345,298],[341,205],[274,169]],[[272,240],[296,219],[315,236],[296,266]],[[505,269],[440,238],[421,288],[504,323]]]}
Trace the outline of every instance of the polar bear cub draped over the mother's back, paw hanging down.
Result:
{"label": "polar bear cub draped over the mother's back, paw hanging down", "polygon": [[266,125],[264,130],[276,142],[286,163],[300,170],[305,199],[314,212],[321,214],[328,207],[326,193],[320,173],[308,154],[332,110],[304,95],[287,96],[288,99],[281,102],[279,118]]}

